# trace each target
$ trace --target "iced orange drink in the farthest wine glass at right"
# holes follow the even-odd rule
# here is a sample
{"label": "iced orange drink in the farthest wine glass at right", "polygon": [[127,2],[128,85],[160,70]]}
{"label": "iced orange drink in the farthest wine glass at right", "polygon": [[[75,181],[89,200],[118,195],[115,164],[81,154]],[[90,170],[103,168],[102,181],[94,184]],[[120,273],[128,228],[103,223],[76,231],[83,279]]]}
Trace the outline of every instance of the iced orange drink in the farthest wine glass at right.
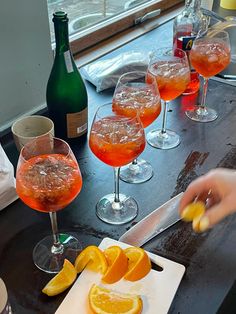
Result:
{"label": "iced orange drink in the farthest wine glass at right", "polygon": [[215,38],[198,40],[191,50],[190,61],[203,77],[214,76],[230,63],[229,45]]}

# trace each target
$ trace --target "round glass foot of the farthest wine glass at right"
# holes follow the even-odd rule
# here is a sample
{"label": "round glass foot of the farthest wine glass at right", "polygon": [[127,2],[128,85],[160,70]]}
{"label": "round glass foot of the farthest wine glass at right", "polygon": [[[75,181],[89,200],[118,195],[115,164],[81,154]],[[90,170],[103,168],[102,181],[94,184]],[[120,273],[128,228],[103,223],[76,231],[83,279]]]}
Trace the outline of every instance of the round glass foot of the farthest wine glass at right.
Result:
{"label": "round glass foot of the farthest wine glass at right", "polygon": [[197,107],[194,110],[185,111],[188,118],[197,122],[211,122],[217,119],[218,114],[214,109]]}

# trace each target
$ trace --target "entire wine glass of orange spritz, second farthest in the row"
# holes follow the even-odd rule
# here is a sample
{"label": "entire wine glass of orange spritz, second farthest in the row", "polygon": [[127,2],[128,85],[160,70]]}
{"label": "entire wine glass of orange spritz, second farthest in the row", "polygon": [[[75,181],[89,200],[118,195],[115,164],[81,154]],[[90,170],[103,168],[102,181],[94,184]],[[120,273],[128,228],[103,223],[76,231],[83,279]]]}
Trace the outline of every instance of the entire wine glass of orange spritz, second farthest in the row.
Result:
{"label": "entire wine glass of orange spritz, second farthest in the row", "polygon": [[180,96],[190,81],[190,69],[185,51],[178,48],[160,48],[152,52],[147,81],[152,76],[157,80],[164,112],[162,128],[150,131],[146,137],[147,142],[160,149],[174,148],[179,145],[180,137],[174,131],[166,129],[167,103]]}

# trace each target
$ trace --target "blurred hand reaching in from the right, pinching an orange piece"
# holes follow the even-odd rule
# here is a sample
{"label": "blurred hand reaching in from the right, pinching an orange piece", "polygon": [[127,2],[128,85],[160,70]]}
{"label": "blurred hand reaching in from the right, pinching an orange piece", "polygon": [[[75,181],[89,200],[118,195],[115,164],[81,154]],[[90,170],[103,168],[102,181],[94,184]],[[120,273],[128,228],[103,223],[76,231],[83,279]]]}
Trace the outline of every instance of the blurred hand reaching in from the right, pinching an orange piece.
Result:
{"label": "blurred hand reaching in from the right, pinching an orange piece", "polygon": [[198,222],[200,232],[236,212],[236,171],[217,168],[194,180],[180,200],[180,214],[195,200],[203,201],[207,207]]}

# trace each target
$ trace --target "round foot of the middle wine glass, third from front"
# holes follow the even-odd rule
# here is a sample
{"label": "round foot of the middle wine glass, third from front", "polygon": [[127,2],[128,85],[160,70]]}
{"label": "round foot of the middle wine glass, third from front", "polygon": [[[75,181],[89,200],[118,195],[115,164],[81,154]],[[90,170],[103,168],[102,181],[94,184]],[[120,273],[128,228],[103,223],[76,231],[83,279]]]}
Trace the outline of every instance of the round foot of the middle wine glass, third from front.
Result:
{"label": "round foot of the middle wine glass, third from front", "polygon": [[143,183],[152,176],[152,166],[144,159],[136,159],[136,163],[130,163],[120,169],[120,179],[128,183]]}

